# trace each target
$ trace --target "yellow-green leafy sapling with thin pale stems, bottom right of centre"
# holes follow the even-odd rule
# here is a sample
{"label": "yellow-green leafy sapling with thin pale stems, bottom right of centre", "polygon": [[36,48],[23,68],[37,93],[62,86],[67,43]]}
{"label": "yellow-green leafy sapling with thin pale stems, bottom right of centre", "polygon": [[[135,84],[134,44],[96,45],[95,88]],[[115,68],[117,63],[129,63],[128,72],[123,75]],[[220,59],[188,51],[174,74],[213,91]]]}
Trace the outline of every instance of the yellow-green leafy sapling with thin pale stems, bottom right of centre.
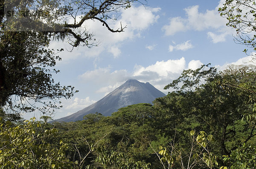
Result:
{"label": "yellow-green leafy sapling with thin pale stems, bottom right of centre", "polygon": [[164,168],[213,168],[218,166],[216,156],[209,152],[209,144],[213,136],[208,135],[204,131],[200,131],[195,137],[195,130],[190,131],[190,151],[186,152],[179,143],[169,143],[168,146],[160,146],[160,161]]}

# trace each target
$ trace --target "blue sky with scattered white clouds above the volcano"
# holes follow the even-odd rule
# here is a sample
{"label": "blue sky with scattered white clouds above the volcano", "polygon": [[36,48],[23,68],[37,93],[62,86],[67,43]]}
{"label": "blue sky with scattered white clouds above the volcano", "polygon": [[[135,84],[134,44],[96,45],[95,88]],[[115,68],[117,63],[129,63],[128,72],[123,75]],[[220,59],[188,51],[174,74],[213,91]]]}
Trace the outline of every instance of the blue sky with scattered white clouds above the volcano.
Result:
{"label": "blue sky with scattered white clouds above the volcano", "polygon": [[[145,2],[144,2],[145,3]],[[99,46],[80,46],[70,52],[67,42],[51,42],[50,48],[64,48],[54,74],[55,82],[79,90],[71,99],[61,99],[55,110],[58,119],[89,106],[128,79],[149,82],[163,90],[184,69],[211,63],[219,70],[229,64],[247,64],[250,56],[236,44],[234,29],[226,26],[218,8],[224,0],[147,0],[121,9],[111,28],[127,25],[124,32],[111,33],[98,21],[88,20],[84,28],[95,34]],[[27,113],[23,118],[40,117]]]}

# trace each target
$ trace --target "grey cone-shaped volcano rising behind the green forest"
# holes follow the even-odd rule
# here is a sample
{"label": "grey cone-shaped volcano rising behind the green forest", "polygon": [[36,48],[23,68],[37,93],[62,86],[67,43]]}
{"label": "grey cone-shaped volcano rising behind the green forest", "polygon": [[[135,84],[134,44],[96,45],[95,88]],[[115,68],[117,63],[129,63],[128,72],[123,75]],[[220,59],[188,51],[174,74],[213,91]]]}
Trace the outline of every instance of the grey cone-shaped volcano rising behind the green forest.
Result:
{"label": "grey cone-shaped volcano rising behind the green forest", "polygon": [[119,108],[128,105],[138,103],[152,104],[154,99],[163,96],[166,95],[160,90],[157,90],[150,83],[143,83],[130,79],[96,103],[85,107],[83,110],[73,113],[72,115],[55,121],[78,121],[82,120],[84,115],[96,112],[108,116],[111,115],[111,113],[116,112]]}

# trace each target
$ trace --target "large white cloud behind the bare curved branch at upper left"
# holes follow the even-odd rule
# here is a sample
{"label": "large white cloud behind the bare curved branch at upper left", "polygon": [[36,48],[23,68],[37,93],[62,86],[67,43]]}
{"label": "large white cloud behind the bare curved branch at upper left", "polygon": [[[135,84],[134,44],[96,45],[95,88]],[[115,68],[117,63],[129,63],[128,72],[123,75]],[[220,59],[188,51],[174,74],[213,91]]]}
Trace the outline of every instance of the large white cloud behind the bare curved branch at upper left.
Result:
{"label": "large white cloud behind the bare curved branch at upper left", "polygon": [[[121,9],[120,16],[118,20],[108,20],[108,25],[114,30],[120,28],[120,23],[122,22],[122,27],[127,25],[127,28],[124,29],[124,32],[121,33],[112,33],[108,31],[108,28],[102,26],[98,20],[87,20],[83,23],[80,30],[89,31],[89,33],[94,34],[93,39],[96,41],[92,41],[96,43],[98,46],[93,48],[87,48],[86,46],[79,48],[75,48],[70,54],[72,46],[67,42],[51,42],[50,48],[64,48],[66,51],[61,52],[61,57],[64,61],[68,61],[70,59],[76,59],[77,57],[97,57],[103,52],[110,52],[114,58],[118,57],[121,54],[122,43],[125,40],[133,40],[134,38],[140,38],[140,34],[149,28],[151,25],[157,22],[159,15],[156,13],[159,12],[161,8],[145,8],[144,6],[131,6],[126,10]],[[79,17],[77,16],[77,22],[79,21]],[[70,17],[71,18],[71,17]],[[69,23],[73,21],[68,20]],[[80,33],[80,34],[81,34]],[[62,62],[63,63],[63,62]],[[68,63],[68,62],[65,62]]]}

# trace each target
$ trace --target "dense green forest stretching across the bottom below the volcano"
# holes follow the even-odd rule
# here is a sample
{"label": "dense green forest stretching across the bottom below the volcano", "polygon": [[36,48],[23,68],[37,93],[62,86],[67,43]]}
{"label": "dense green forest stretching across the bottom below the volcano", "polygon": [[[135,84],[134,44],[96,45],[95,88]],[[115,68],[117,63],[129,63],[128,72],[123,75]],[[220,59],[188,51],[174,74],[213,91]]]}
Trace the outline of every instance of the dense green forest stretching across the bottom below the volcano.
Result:
{"label": "dense green forest stretching across the bottom below the volcano", "polygon": [[10,122],[2,113],[2,168],[250,169],[256,166],[256,67],[184,70],[151,104],[83,121]]}

